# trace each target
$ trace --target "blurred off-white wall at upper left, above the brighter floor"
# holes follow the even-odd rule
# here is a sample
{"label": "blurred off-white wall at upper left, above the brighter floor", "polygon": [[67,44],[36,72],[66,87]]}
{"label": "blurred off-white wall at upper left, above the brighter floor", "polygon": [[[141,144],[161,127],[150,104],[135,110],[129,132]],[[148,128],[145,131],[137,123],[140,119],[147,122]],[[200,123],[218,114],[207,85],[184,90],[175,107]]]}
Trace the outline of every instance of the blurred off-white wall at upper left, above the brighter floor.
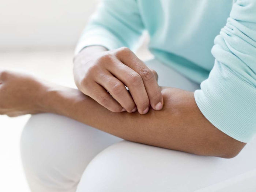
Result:
{"label": "blurred off-white wall at upper left, above the brighter floor", "polygon": [[0,0],[0,50],[74,46],[98,0]]}

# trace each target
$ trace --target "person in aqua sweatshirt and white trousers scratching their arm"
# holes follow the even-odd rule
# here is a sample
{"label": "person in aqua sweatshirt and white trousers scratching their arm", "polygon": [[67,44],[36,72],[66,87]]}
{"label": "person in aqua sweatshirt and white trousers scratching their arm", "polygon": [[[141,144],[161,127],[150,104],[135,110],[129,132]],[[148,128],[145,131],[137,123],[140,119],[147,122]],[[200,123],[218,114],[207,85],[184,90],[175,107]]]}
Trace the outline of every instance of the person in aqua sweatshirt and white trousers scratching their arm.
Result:
{"label": "person in aqua sweatshirt and white trousers scratching their arm", "polygon": [[42,113],[21,138],[31,191],[251,192],[255,62],[255,0],[103,0],[75,51],[78,90],[2,70],[0,113]]}

